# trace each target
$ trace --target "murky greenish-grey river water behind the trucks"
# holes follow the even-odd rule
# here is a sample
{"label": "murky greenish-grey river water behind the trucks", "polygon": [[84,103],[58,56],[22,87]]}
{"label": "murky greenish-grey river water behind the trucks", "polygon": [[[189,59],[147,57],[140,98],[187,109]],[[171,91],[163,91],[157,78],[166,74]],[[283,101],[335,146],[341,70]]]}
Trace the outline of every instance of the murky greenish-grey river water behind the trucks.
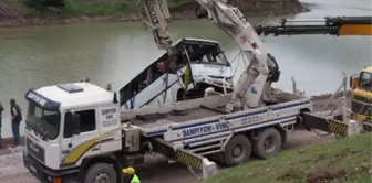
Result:
{"label": "murky greenish-grey river water behind the trucks", "polygon": [[[312,11],[287,18],[372,15],[369,0],[302,2]],[[276,23],[279,19],[249,20],[255,24]],[[189,36],[219,41],[229,60],[239,52],[230,37],[208,21],[173,22],[169,30],[174,40]],[[10,36],[13,39],[7,39]],[[0,29],[0,103],[6,108],[2,137],[11,136],[9,99],[17,99],[24,116],[24,94],[29,88],[89,77],[103,86],[111,83],[117,90],[162,53],[141,23]],[[331,93],[340,85],[342,72],[354,74],[372,63],[372,37],[368,36],[302,35],[264,40],[282,72],[276,86],[286,90],[291,89],[291,76],[294,76],[298,87],[308,95]],[[244,63],[236,60],[232,65],[239,74]]]}

